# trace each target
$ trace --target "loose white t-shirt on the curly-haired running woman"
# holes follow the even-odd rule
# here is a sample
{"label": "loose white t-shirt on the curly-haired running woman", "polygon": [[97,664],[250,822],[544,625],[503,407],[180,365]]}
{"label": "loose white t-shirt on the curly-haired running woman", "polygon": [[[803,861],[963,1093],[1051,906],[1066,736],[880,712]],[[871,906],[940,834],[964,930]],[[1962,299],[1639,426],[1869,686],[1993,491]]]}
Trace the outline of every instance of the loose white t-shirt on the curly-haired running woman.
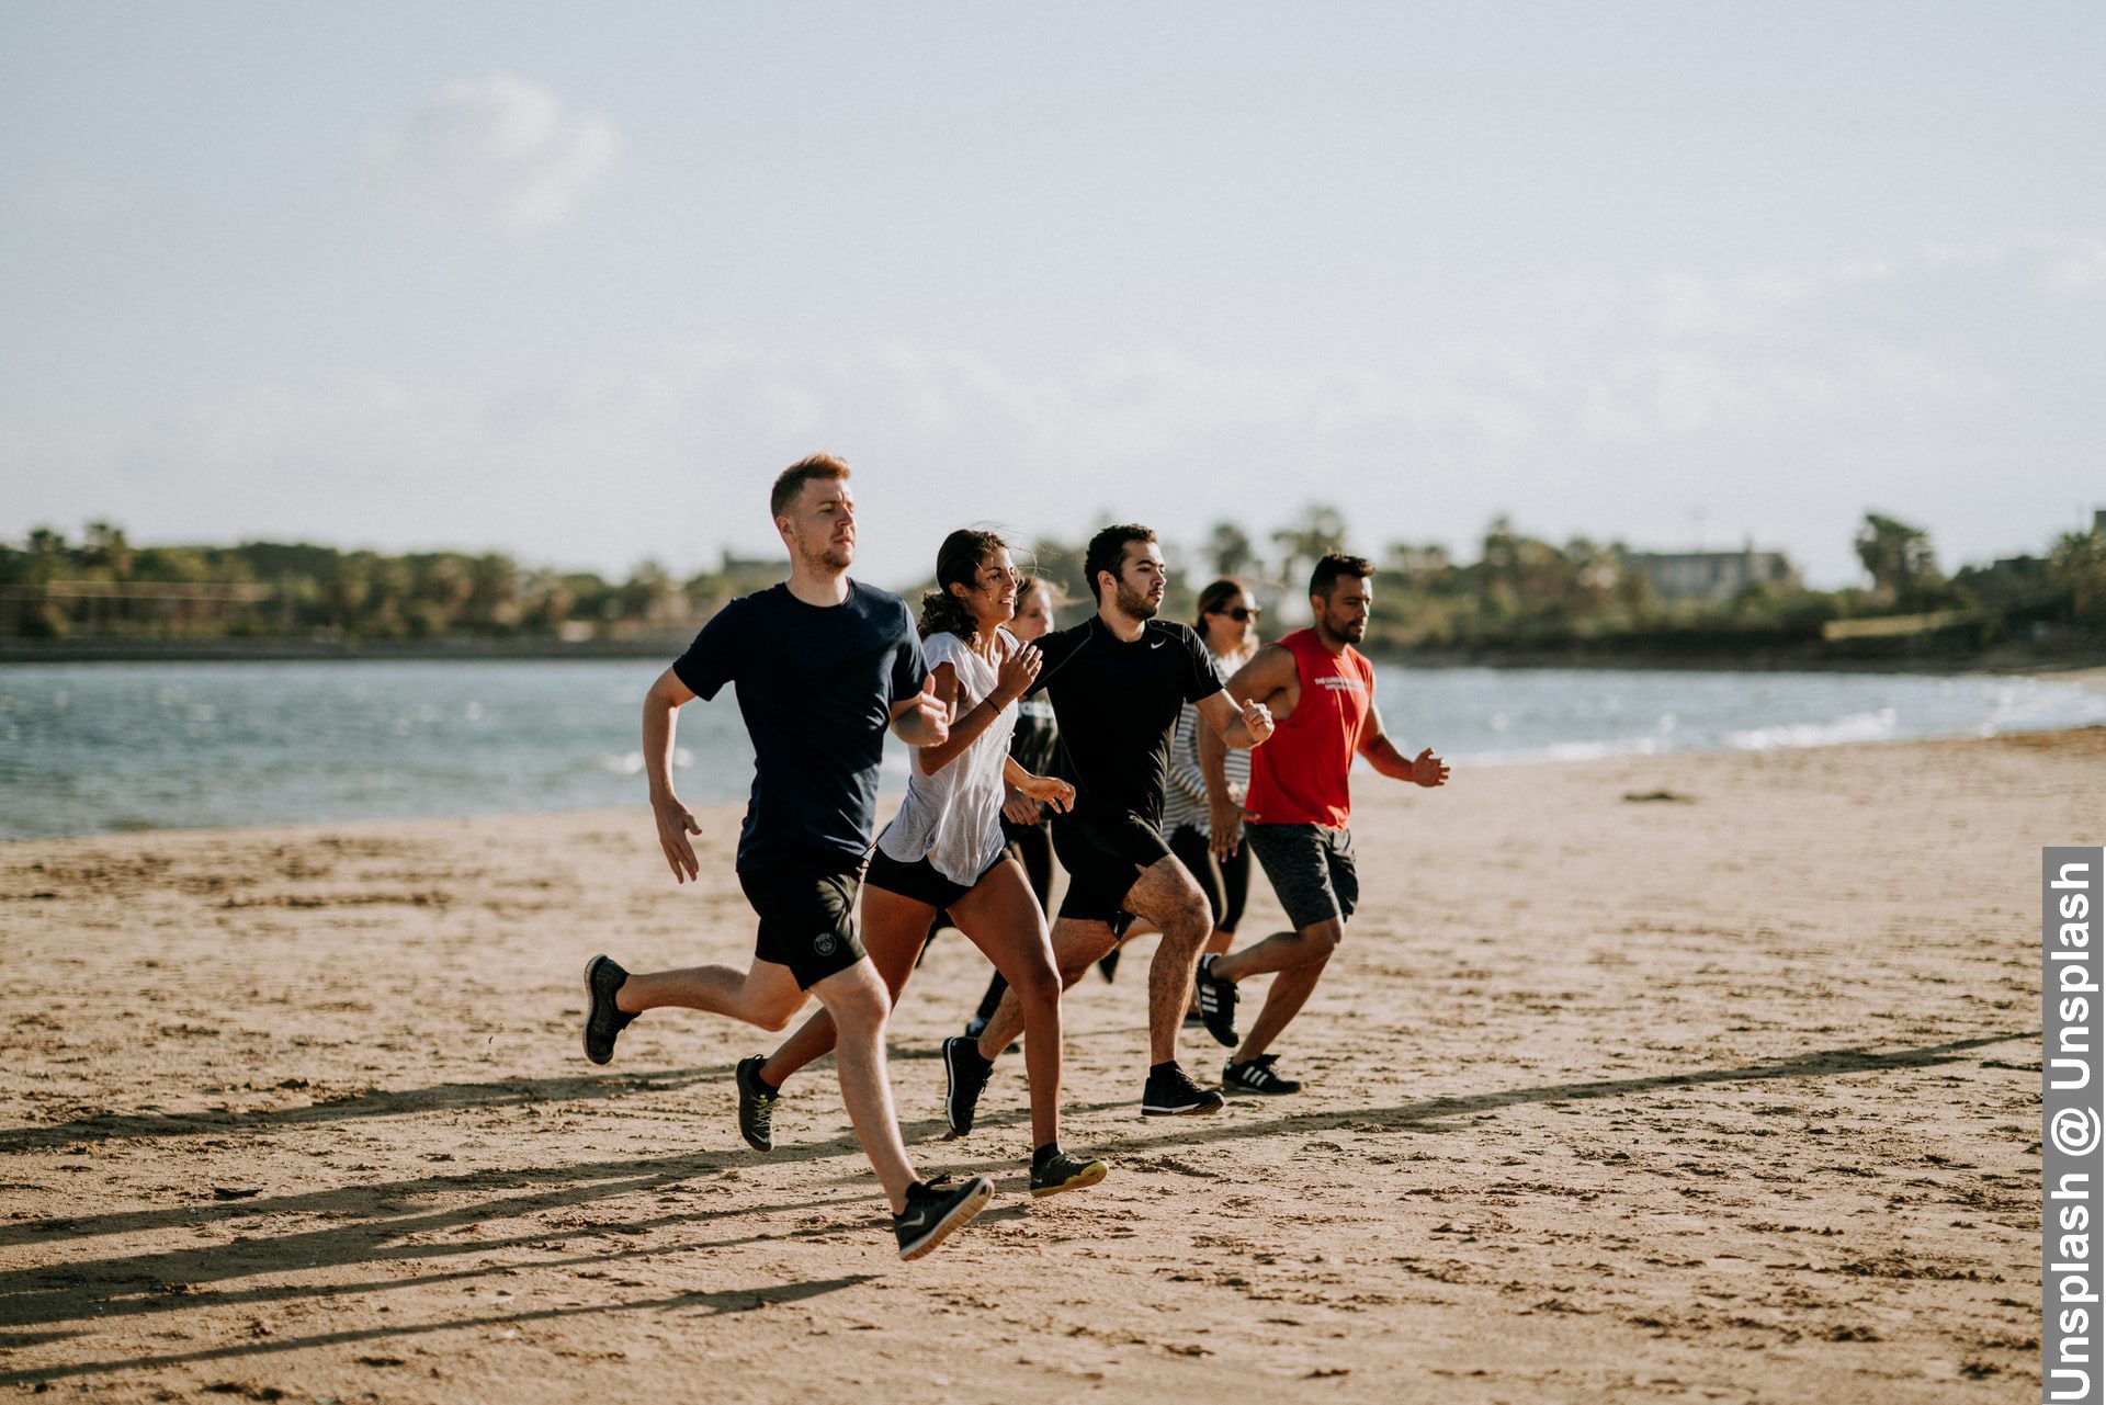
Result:
{"label": "loose white t-shirt on the curly-haired running woman", "polygon": [[[1002,657],[1017,649],[1009,630],[1000,630]],[[973,653],[956,634],[931,634],[922,640],[929,672],[950,664],[958,674],[958,716],[994,693],[996,666]],[[1002,763],[1009,758],[1009,735],[1017,729],[1015,704],[1002,708],[973,746],[954,756],[935,775],[925,775],[920,758],[908,760],[908,800],[899,807],[878,849],[899,864],[929,859],[929,866],[952,883],[977,883],[1002,857]]]}

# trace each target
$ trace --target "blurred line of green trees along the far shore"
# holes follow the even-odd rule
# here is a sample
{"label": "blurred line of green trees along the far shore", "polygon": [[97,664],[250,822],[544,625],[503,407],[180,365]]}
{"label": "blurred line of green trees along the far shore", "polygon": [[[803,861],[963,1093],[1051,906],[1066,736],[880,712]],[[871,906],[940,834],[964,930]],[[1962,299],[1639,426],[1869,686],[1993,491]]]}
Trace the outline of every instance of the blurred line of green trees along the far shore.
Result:
{"label": "blurred line of green trees along the far shore", "polygon": [[[1348,550],[1346,520],[1327,506],[1308,506],[1264,541],[1238,522],[1217,522],[1196,543],[1165,543],[1175,581],[1167,609],[1188,619],[1198,588],[1232,575],[1257,590],[1274,621],[1293,619],[1310,567],[1335,550]],[[1375,552],[1369,645],[1718,651],[1817,640],[1834,634],[1836,621],[1866,619],[1893,621],[1898,634],[1921,621],[1921,630],[1959,632],[1978,645],[2041,630],[2106,630],[2100,525],[2058,537],[2039,556],[1950,575],[1940,571],[1929,535],[1891,516],[1868,514],[1855,550],[1870,579],[1864,588],[1750,581],[1723,598],[1662,598],[1645,558],[1624,543],[1556,543],[1502,516],[1470,562],[1436,543],[1396,541]],[[1078,543],[1040,539],[1026,560],[1072,600],[1089,600]],[[524,567],[497,552],[133,546],[120,527],[91,522],[78,541],[36,529],[21,543],[0,543],[0,634],[655,638],[693,630],[724,600],[779,577],[775,560],[733,556],[684,579],[647,560],[615,581]]]}

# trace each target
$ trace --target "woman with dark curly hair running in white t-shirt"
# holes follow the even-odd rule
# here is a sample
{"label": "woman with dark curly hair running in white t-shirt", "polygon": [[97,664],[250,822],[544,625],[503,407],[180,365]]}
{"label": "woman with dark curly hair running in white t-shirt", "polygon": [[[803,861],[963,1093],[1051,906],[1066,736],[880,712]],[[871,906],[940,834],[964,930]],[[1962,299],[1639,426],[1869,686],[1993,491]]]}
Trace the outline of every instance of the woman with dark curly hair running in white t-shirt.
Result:
{"label": "woman with dark curly hair running in white t-shirt", "polygon": [[[1074,803],[1074,786],[1032,775],[1009,756],[1017,699],[1038,678],[1038,651],[1002,628],[1019,590],[1009,543],[990,531],[954,531],[937,550],[935,579],[922,596],[922,655],[937,695],[950,701],[950,737],[914,754],[908,798],[878,834],[863,872],[863,950],[895,1003],[939,910],[988,954],[1024,1001],[1032,1194],[1078,1190],[1104,1180],[1108,1167],[1059,1150],[1061,982],[1045,908],[1002,836],[1005,786],[1059,811]],[[767,1060],[739,1064],[748,1144],[773,1146],[783,1079],[832,1047],[834,1022],[819,1011]]]}

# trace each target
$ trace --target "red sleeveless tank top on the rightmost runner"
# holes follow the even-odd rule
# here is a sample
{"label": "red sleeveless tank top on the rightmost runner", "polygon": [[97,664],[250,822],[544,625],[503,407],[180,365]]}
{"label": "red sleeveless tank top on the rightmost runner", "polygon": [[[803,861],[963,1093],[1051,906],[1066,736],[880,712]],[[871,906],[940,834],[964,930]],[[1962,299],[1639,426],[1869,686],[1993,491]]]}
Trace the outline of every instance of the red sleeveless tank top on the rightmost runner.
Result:
{"label": "red sleeveless tank top on the rightmost runner", "polygon": [[1316,630],[1295,630],[1280,640],[1280,649],[1295,655],[1302,701],[1251,752],[1251,792],[1243,809],[1257,824],[1344,830],[1352,817],[1346,773],[1375,701],[1375,668],[1352,645],[1331,653]]}

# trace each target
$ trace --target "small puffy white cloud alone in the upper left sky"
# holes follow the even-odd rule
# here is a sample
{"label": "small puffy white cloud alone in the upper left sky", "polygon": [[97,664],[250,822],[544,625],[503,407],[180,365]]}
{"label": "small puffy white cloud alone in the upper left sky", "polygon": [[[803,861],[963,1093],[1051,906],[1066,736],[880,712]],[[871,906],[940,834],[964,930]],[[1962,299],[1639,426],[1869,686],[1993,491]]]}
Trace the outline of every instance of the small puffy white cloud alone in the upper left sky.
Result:
{"label": "small puffy white cloud alone in the upper left sky", "polygon": [[406,204],[463,223],[533,230],[560,221],[615,158],[613,122],[564,110],[512,74],[449,82],[375,147]]}

